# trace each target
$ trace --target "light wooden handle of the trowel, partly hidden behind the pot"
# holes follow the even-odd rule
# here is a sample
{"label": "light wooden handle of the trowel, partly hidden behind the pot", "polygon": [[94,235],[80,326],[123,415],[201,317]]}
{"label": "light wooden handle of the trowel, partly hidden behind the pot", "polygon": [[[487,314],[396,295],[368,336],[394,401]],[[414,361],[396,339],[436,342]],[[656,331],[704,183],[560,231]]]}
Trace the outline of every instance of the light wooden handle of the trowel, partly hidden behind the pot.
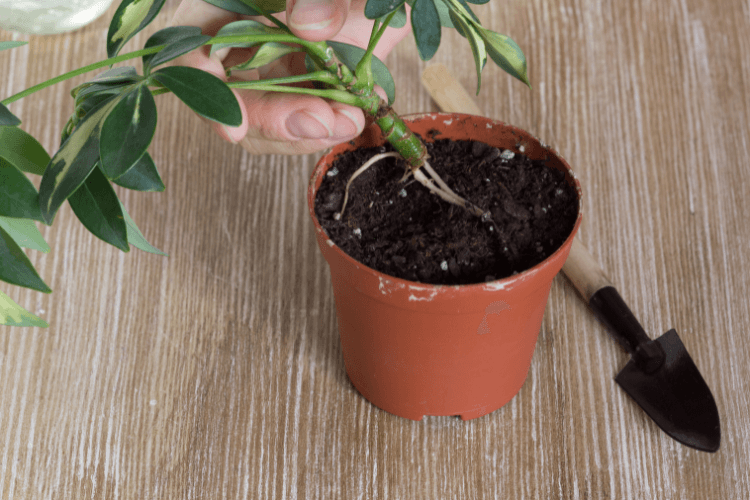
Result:
{"label": "light wooden handle of the trowel, partly hidden behind the pot", "polygon": [[[448,113],[481,115],[482,112],[466,89],[442,64],[428,66],[422,73],[422,84],[440,109]],[[588,302],[600,288],[612,286],[604,271],[578,239],[573,240],[563,272]]]}

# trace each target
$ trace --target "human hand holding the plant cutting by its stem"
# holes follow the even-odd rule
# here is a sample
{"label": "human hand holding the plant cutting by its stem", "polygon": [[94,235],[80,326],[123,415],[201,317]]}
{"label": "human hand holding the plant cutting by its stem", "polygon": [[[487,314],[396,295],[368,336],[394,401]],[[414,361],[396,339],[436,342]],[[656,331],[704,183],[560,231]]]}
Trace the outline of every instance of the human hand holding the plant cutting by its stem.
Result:
{"label": "human hand holding the plant cutting by its stem", "polygon": [[[351,5],[350,5],[351,2]],[[286,13],[277,16],[292,32],[306,40],[336,40],[366,48],[373,21],[365,18],[366,0],[288,0]],[[198,26],[206,35],[215,35],[224,25],[247,18],[227,12],[203,0],[183,0],[172,24]],[[375,49],[383,59],[411,30],[388,28]],[[204,46],[177,62],[208,71],[227,81],[225,67],[247,59],[248,49],[221,49],[213,55]],[[305,53],[285,56],[259,70],[234,72],[230,81],[278,78],[305,73]],[[210,122],[224,139],[239,143],[255,154],[307,154],[353,139],[365,126],[361,109],[329,102],[320,97],[281,94],[258,90],[233,89],[242,111],[242,125],[228,127]],[[384,96],[384,93],[381,92]]]}

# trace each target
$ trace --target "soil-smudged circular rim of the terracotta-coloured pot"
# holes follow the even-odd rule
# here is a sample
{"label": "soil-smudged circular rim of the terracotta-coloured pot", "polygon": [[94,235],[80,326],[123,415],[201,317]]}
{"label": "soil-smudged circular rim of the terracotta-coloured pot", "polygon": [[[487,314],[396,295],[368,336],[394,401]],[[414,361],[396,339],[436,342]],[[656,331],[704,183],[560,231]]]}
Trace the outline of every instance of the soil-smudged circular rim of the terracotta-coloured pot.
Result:
{"label": "soil-smudged circular rim of the terracotta-coloured pot", "polygon": [[[315,231],[316,233],[322,235],[325,238],[325,242],[331,248],[331,250],[335,251],[337,254],[343,257],[350,264],[354,265],[356,268],[361,269],[364,272],[367,272],[373,278],[381,280],[381,282],[385,281],[388,285],[396,285],[399,287],[405,286],[405,287],[408,287],[410,290],[426,291],[426,292],[430,292],[430,291],[437,292],[438,290],[443,291],[443,292],[447,290],[469,291],[472,289],[493,290],[493,291],[508,290],[508,289],[514,288],[516,285],[523,283],[529,278],[531,278],[533,275],[539,272],[542,268],[544,268],[548,261],[556,259],[560,253],[565,251],[564,250],[565,247],[567,247],[571,243],[572,239],[575,237],[581,225],[581,220],[583,218],[583,193],[581,190],[581,183],[575,171],[570,167],[570,165],[565,160],[565,158],[563,158],[555,149],[548,146],[546,143],[538,139],[536,136],[532,135],[531,133],[521,128],[518,128],[514,125],[509,125],[500,120],[495,120],[495,119],[487,118],[484,116],[470,115],[466,113],[427,112],[427,113],[412,113],[408,115],[402,115],[401,118],[407,124],[411,121],[416,121],[416,120],[425,119],[425,118],[432,118],[433,120],[438,120],[441,118],[451,119],[451,120],[454,120],[454,119],[460,120],[460,119],[466,119],[466,118],[471,119],[471,120],[480,120],[485,125],[491,124],[492,127],[503,127],[503,128],[511,130],[512,132],[518,132],[524,136],[528,136],[533,141],[536,141],[543,149],[545,149],[552,156],[554,156],[565,167],[566,174],[573,181],[573,186],[575,187],[576,193],[578,194],[578,216],[576,217],[576,221],[575,221],[575,224],[573,225],[573,229],[571,229],[570,234],[568,235],[567,238],[565,238],[565,241],[563,241],[560,244],[560,246],[557,247],[557,249],[554,252],[552,252],[550,255],[548,255],[547,258],[544,259],[543,261],[535,264],[534,266],[528,269],[525,269],[524,271],[518,274],[506,276],[505,278],[500,278],[500,279],[496,279],[493,281],[485,281],[481,283],[466,283],[466,284],[458,284],[458,285],[441,285],[441,284],[432,284],[432,283],[422,283],[419,281],[410,281],[404,278],[392,276],[390,274],[386,274],[376,269],[373,269],[367,266],[366,264],[363,264],[362,262],[354,259],[349,254],[344,252],[338,245],[336,245],[336,243],[328,236],[325,229],[323,229],[323,226],[320,224],[320,221],[318,220],[318,217],[315,214],[315,195],[317,193],[318,187],[320,186],[320,183],[322,183],[323,181],[323,177],[325,176],[326,172],[332,165],[331,161],[324,162],[323,160],[328,157],[333,159],[339,154],[342,154],[348,151],[354,151],[355,149],[358,149],[358,147],[354,146],[354,141],[356,141],[355,139],[354,141],[341,143],[341,144],[334,146],[333,148],[328,149],[323,154],[323,156],[321,156],[321,158],[318,160],[318,163],[316,164],[315,169],[313,169],[313,172],[310,176],[310,180],[308,182],[307,205],[308,205],[310,216],[313,220],[313,224],[315,225]],[[447,123],[446,125],[448,124],[450,123]],[[372,124],[370,125],[370,127],[377,128],[377,125]],[[365,129],[365,131],[367,131],[367,129]],[[378,129],[378,132],[379,132],[379,129]],[[450,138],[450,137],[448,137],[447,135],[441,134],[440,138]],[[320,183],[318,183],[318,180],[320,180]]]}

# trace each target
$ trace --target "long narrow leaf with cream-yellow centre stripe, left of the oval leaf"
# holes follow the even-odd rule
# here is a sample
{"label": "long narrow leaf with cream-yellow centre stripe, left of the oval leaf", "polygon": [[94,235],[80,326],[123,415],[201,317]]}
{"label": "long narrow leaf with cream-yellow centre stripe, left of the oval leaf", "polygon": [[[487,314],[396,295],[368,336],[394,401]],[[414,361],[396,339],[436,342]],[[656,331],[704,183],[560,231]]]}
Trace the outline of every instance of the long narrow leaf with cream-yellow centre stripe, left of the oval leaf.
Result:
{"label": "long narrow leaf with cream-yellow centre stripe, left of the oval leaf", "polygon": [[50,160],[39,186],[39,202],[47,223],[52,223],[63,202],[83,184],[96,166],[99,131],[117,101],[104,101],[88,112]]}

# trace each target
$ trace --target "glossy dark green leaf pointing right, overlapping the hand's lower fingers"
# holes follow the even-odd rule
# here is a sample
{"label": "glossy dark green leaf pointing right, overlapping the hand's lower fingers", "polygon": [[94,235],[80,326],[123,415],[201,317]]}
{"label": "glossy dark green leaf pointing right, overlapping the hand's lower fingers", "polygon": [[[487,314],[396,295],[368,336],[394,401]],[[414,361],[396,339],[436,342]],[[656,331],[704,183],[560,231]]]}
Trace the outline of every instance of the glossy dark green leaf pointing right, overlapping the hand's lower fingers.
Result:
{"label": "glossy dark green leaf pointing right, overlapping the hand's lower fingers", "polygon": [[151,74],[190,109],[209,120],[237,127],[242,112],[227,84],[211,73],[188,66],[169,66]]}

